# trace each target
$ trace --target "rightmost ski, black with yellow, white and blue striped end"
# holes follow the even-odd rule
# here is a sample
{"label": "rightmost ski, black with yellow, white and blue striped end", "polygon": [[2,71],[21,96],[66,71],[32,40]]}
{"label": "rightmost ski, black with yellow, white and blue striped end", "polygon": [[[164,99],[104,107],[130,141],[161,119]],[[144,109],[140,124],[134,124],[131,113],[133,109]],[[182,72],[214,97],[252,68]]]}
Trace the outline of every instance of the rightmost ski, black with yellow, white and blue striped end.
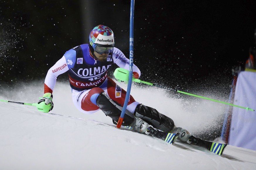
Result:
{"label": "rightmost ski, black with yellow, white and blue striped end", "polygon": [[196,145],[196,146],[205,148],[205,149],[207,149],[217,155],[220,155],[220,156],[222,155],[223,150],[227,146],[227,144],[210,142],[207,140],[196,138],[192,135],[189,137],[188,142],[191,143],[192,145]]}

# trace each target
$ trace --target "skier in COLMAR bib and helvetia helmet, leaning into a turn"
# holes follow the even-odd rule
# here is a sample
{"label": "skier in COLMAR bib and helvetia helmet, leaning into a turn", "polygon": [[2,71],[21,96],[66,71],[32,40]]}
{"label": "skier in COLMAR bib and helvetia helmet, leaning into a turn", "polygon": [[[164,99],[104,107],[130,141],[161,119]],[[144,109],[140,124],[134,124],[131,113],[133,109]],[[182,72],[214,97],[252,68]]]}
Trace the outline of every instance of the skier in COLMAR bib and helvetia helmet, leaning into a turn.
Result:
{"label": "skier in COLMAR bib and helvetia helmet, leaning into a turn", "polygon": [[[116,63],[129,69],[129,60],[114,47],[113,31],[104,25],[94,27],[89,35],[89,44],[82,44],[67,51],[55,63],[45,77],[44,95],[38,101],[38,108],[53,108],[52,91],[57,76],[68,72],[73,103],[83,113],[91,114],[101,109],[116,123],[121,115],[126,91],[107,75],[108,68]],[[133,65],[133,77],[140,77],[140,70]],[[47,112],[49,112],[47,109]],[[178,139],[187,141],[189,132],[176,127],[171,118],[145,106],[130,96],[124,115],[124,126],[132,126],[140,133],[150,135],[153,127],[164,132],[177,133]],[[153,126],[153,127],[152,127]]]}

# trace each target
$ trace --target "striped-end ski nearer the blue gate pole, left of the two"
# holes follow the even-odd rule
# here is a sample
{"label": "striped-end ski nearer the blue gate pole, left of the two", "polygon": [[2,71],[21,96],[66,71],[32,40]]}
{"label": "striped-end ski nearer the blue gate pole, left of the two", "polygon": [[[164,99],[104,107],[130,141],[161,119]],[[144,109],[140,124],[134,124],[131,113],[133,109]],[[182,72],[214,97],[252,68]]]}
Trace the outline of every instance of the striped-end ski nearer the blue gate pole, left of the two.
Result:
{"label": "striped-end ski nearer the blue gate pole, left of the two", "polygon": [[[133,130],[132,126],[122,126],[122,127],[124,129]],[[143,134],[162,139],[170,144],[173,144],[179,136],[179,133],[175,134],[175,133],[162,132],[158,129],[153,128],[152,126],[148,127],[147,131]]]}

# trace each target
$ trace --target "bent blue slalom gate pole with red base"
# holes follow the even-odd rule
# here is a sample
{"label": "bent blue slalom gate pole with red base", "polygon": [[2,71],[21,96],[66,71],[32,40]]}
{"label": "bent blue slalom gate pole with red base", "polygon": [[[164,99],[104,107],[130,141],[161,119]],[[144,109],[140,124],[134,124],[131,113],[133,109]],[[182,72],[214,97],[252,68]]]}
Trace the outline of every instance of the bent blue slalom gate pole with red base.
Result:
{"label": "bent blue slalom gate pole with red base", "polygon": [[129,63],[129,76],[128,76],[128,86],[126,91],[126,97],[123,104],[123,110],[121,115],[118,119],[116,127],[118,129],[121,128],[123,123],[123,117],[128,105],[128,100],[130,98],[130,91],[132,86],[132,79],[133,79],[133,15],[134,15],[134,0],[131,0],[131,8],[130,8],[130,63]]}

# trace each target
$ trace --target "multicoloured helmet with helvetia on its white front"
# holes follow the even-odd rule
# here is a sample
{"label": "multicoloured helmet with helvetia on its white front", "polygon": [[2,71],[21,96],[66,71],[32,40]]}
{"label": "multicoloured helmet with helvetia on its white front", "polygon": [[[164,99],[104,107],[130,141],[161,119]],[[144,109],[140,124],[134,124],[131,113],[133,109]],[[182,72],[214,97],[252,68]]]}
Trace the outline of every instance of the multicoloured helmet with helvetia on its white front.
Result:
{"label": "multicoloured helmet with helvetia on its white front", "polygon": [[91,30],[89,35],[89,47],[92,47],[93,50],[95,50],[97,46],[106,48],[111,47],[113,50],[114,44],[114,34],[109,27],[98,25]]}

